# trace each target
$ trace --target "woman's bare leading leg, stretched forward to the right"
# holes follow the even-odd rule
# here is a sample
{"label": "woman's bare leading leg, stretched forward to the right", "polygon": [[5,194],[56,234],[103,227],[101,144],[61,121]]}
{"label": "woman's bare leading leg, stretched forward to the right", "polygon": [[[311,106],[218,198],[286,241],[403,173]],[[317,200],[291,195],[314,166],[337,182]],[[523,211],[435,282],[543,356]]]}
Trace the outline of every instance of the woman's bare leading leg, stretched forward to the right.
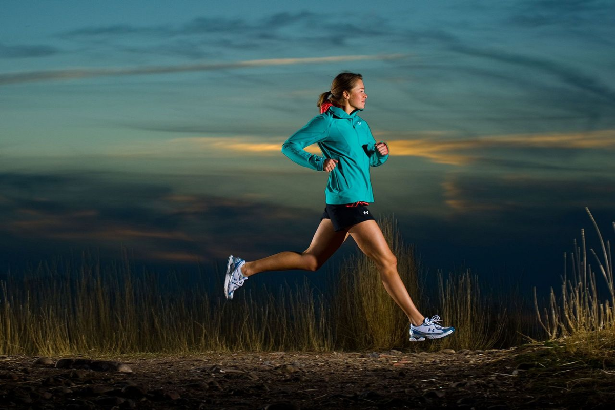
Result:
{"label": "woman's bare leading leg, stretched forward to the right", "polygon": [[413,325],[421,325],[425,317],[416,309],[406,286],[403,285],[402,278],[399,277],[397,272],[397,258],[389,248],[389,244],[384,239],[376,221],[364,221],[356,224],[348,232],[360,250],[375,262],[384,288],[391,295],[391,298],[402,308]]}

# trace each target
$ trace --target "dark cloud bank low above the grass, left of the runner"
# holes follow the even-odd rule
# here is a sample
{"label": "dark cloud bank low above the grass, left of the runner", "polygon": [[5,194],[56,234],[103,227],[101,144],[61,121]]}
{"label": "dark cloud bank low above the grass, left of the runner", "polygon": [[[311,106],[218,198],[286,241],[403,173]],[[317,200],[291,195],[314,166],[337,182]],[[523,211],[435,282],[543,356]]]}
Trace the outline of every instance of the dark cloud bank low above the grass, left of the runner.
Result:
{"label": "dark cloud bank low above the grass, left of the runner", "polygon": [[[20,248],[28,250],[29,261],[52,249],[97,248],[111,256],[127,246],[140,260],[192,263],[225,258],[229,251],[252,257],[269,254],[272,247],[304,246],[304,239],[288,239],[285,233],[288,221],[302,210],[264,203],[254,195],[183,194],[173,187],[178,181],[149,176],[58,175],[47,185],[50,177],[0,173],[2,261],[11,261],[11,250]],[[202,183],[207,175],[197,178]],[[228,221],[243,233],[229,231]],[[313,221],[295,221],[293,229],[304,224]]]}

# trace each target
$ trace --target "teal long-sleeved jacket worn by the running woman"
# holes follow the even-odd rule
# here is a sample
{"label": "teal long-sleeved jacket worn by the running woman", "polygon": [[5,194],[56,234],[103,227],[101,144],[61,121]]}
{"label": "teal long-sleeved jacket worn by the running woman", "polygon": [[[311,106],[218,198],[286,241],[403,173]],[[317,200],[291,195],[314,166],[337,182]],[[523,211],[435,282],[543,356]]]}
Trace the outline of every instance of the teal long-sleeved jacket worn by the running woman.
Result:
{"label": "teal long-sleeved jacket worn by the running woman", "polygon": [[[322,171],[327,158],[339,161],[329,173],[325,188],[325,200],[329,205],[374,202],[370,165],[378,167],[389,158],[388,154],[382,156],[376,151],[376,140],[370,127],[357,116],[357,111],[347,114],[341,108],[331,107],[312,118],[282,144],[285,156],[312,170]],[[318,144],[324,157],[304,150],[314,143]]]}

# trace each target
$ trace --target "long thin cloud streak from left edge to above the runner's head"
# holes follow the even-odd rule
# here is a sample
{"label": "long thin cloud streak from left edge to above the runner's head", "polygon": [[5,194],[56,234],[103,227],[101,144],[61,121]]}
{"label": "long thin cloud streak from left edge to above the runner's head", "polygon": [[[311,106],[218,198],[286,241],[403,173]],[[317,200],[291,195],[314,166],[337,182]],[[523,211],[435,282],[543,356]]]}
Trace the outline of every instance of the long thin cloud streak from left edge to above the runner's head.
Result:
{"label": "long thin cloud streak from left edge to above the runner's head", "polygon": [[400,54],[383,55],[339,55],[307,58],[268,58],[265,60],[244,60],[231,63],[201,63],[175,66],[145,66],[133,68],[63,69],[55,71],[31,71],[30,73],[0,74],[0,85],[20,84],[37,81],[69,81],[75,79],[105,76],[136,76],[194,71],[215,71],[234,68],[260,68],[268,66],[323,64],[338,61],[395,60],[404,58]]}

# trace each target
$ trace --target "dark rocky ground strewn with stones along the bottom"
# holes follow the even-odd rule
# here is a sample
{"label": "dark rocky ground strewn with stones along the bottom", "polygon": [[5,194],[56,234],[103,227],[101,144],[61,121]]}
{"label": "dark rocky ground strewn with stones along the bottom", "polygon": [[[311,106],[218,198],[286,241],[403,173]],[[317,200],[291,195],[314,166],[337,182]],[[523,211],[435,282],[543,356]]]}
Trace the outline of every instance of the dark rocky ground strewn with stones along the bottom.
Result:
{"label": "dark rocky ground strewn with stones along the bottom", "polygon": [[4,356],[0,408],[612,408],[615,371],[550,349]]}

